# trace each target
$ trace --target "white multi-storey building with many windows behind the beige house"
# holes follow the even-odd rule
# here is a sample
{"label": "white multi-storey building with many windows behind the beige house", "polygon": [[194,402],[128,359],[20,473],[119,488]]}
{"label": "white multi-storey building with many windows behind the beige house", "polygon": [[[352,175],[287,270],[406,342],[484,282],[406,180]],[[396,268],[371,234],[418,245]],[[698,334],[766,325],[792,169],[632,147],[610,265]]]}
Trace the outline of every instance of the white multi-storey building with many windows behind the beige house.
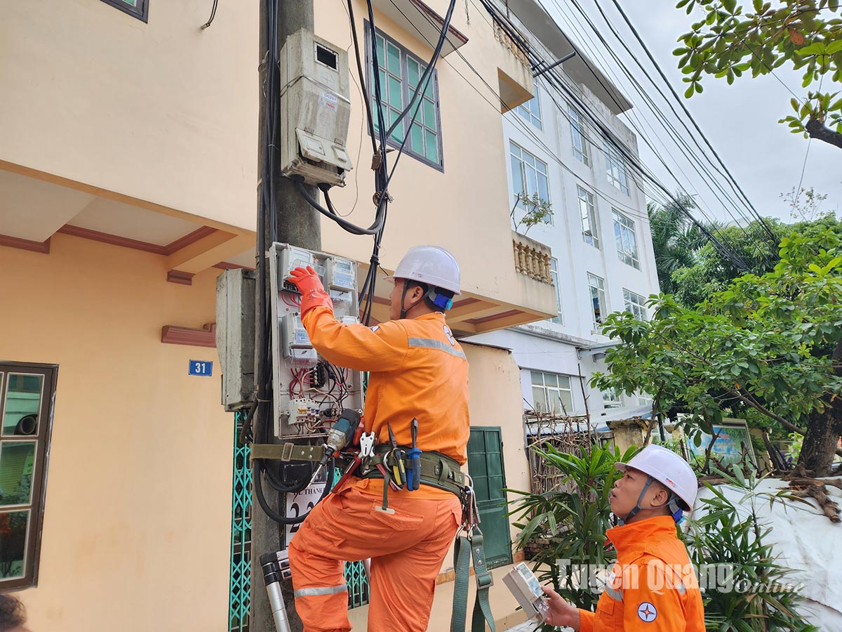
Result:
{"label": "white multi-storey building with many windows behind the beige house", "polygon": [[594,372],[605,371],[611,345],[600,333],[605,315],[627,310],[647,319],[647,297],[658,292],[646,197],[623,156],[638,155],[637,138],[618,118],[632,104],[540,3],[511,0],[509,9],[512,24],[547,63],[576,51],[554,72],[576,97],[539,76],[535,98],[504,117],[514,219],[524,214],[515,207],[519,193],[537,193],[552,205],[552,221],[530,228],[529,237],[552,249],[558,315],[477,339],[512,350],[526,409],[582,415],[587,405],[599,427],[600,419],[631,416],[651,404],[645,395],[601,393],[589,386]]}

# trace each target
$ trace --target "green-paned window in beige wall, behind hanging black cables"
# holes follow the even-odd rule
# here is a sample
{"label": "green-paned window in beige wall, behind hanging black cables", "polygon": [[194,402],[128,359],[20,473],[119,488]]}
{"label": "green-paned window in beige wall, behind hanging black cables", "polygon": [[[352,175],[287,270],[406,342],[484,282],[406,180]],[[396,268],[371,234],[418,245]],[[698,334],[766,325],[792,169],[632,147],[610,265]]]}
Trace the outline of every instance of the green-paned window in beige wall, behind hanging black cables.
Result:
{"label": "green-paned window in beige wall, behind hanging black cables", "polygon": [[[370,25],[366,23],[365,26],[366,37],[370,38]],[[418,83],[420,83],[427,65],[413,56],[397,41],[392,40],[391,37],[384,35],[379,30],[376,32],[376,44],[383,116],[386,120],[386,126],[391,127],[418,91]],[[369,98],[375,118],[375,130],[378,131],[380,126],[377,121],[376,110],[374,110],[373,66],[373,60],[370,59],[368,61]],[[409,121],[417,107],[418,115],[416,115],[415,121],[409,129],[409,137],[403,151],[413,158],[418,158],[423,163],[437,169],[443,169],[439,114],[439,75],[435,69],[431,73],[424,94],[418,99],[409,114],[395,126],[387,142],[394,147],[401,146],[403,138],[407,134]]]}

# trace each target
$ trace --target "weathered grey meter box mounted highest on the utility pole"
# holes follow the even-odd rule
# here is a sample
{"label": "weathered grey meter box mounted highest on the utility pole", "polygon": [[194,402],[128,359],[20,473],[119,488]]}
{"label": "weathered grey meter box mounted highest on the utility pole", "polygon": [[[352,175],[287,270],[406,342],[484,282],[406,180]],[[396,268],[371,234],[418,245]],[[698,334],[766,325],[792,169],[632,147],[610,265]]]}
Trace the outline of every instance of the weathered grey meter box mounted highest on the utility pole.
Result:
{"label": "weathered grey meter box mounted highest on the utility pole", "polygon": [[348,52],[301,29],[280,51],[280,169],[309,185],[345,185],[351,116]]}

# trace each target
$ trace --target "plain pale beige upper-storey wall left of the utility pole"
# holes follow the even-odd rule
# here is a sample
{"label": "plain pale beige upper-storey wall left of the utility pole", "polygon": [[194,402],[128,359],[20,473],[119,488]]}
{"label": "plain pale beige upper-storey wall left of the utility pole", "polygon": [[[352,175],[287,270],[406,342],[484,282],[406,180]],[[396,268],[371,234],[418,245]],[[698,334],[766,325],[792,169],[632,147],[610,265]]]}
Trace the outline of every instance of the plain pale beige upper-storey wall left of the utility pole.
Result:
{"label": "plain pale beige upper-storey wall left of the utility pole", "polygon": [[253,230],[258,3],[209,11],[3,3],[0,160]]}

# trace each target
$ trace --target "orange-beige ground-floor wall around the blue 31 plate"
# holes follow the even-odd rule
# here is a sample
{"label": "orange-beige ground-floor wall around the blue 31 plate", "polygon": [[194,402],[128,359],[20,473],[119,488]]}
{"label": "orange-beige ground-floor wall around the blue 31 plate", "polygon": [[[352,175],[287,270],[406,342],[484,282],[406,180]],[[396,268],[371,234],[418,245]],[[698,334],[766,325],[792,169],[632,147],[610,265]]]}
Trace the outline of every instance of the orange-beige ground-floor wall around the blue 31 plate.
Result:
{"label": "orange-beige ground-floor wall around the blue 31 plate", "polygon": [[18,593],[36,632],[226,629],[233,416],[216,350],[160,341],[213,322],[219,270],[187,287],[163,262],[61,234],[0,248],[0,359],[59,366],[38,586]]}

